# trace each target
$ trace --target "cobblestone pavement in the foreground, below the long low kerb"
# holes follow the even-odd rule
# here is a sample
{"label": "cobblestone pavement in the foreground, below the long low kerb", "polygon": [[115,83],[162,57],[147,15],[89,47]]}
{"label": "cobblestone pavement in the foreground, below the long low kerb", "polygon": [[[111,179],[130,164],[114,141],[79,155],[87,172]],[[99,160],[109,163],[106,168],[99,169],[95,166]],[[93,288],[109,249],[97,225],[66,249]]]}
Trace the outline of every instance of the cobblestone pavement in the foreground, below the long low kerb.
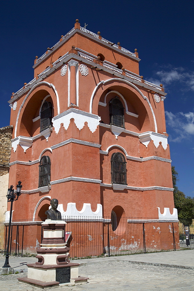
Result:
{"label": "cobblestone pavement in the foreground, below the long low kerb", "polygon": [[[17,278],[26,276],[14,274],[0,276],[1,291],[41,290],[30,285],[18,283]],[[79,267],[79,275],[89,277],[89,283],[74,286],[46,288],[56,291],[193,291],[194,270],[179,268],[137,265],[130,263],[98,262]]]}

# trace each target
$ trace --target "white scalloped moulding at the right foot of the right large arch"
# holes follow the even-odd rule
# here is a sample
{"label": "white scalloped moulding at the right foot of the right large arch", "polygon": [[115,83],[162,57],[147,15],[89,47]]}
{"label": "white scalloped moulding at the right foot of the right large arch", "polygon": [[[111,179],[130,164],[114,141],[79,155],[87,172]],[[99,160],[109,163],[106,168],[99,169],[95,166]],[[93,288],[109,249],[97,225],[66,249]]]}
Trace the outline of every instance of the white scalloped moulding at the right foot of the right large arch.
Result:
{"label": "white scalloped moulding at the right foot of the right large arch", "polygon": [[166,150],[168,144],[168,137],[165,136],[164,134],[151,131],[139,134],[139,141],[143,143],[146,146],[146,148],[148,147],[148,144],[151,140],[154,142],[156,148],[159,146],[159,142],[161,141],[164,150]]}

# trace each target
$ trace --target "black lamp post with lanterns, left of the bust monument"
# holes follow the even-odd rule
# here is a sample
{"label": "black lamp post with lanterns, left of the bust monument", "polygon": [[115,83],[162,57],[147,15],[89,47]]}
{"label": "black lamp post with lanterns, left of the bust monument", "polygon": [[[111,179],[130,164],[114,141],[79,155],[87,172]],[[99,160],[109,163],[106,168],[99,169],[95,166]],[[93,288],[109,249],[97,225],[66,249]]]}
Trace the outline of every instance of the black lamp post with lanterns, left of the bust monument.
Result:
{"label": "black lamp post with lanterns, left of the bust monument", "polygon": [[[12,218],[12,206],[13,206],[13,201],[17,200],[18,197],[21,195],[21,181],[18,182],[16,186],[16,194],[14,193],[13,185],[10,186],[8,189],[8,194],[6,197],[8,198],[8,202],[11,201],[11,207],[10,207],[10,219],[9,219],[9,230],[8,230],[8,244],[7,244],[7,250],[6,250],[6,261],[3,266],[3,268],[9,268],[9,243],[10,243],[10,229],[11,229],[11,218]],[[16,198],[17,196],[17,198]]]}

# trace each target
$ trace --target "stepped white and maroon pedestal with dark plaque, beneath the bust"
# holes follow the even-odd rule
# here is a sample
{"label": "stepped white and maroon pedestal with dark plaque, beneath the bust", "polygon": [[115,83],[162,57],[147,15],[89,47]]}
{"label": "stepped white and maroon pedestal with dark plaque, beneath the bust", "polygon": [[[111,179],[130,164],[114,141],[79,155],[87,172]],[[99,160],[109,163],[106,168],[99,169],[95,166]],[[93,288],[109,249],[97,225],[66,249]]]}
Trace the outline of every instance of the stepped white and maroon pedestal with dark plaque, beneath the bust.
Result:
{"label": "stepped white and maroon pedestal with dark plaque, beneath the bust", "polygon": [[78,276],[77,263],[69,260],[69,248],[64,241],[64,221],[46,219],[42,223],[43,239],[37,249],[38,262],[27,264],[28,277],[18,278],[21,283],[40,288],[64,283],[87,283],[88,278]]}

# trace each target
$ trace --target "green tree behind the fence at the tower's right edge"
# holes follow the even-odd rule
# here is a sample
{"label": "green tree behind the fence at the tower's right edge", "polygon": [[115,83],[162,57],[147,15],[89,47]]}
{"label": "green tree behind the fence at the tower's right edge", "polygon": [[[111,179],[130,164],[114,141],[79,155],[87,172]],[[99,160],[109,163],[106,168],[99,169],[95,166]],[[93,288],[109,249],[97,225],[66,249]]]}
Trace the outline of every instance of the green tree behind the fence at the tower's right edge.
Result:
{"label": "green tree behind the fence at the tower's right edge", "polygon": [[175,170],[175,166],[172,166],[172,178],[174,188],[174,203],[177,208],[178,219],[185,225],[191,225],[194,219],[194,199],[185,196],[185,194],[179,191],[177,187],[178,173]]}

